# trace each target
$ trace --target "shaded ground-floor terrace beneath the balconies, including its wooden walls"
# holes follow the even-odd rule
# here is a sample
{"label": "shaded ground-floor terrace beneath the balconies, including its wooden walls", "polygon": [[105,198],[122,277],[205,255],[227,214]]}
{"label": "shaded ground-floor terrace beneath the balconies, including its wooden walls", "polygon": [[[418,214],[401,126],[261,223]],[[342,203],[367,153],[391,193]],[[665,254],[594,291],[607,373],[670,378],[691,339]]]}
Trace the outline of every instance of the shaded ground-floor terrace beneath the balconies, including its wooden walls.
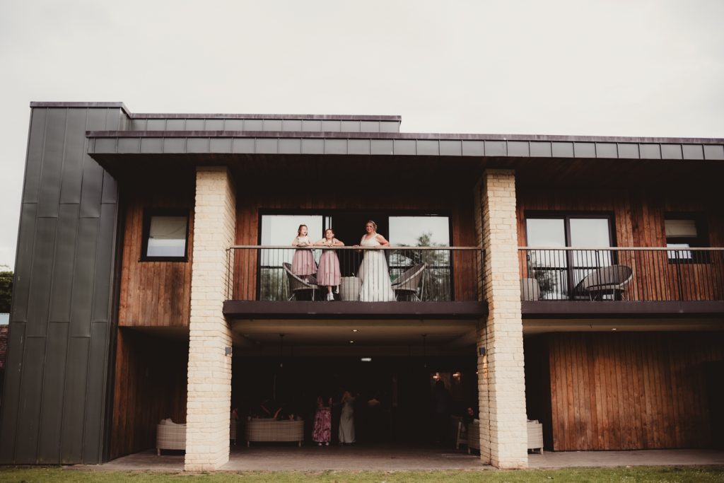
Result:
{"label": "shaded ground-floor terrace beneath the balconies, including its wooden walls", "polygon": [[[689,332],[681,330],[684,323]],[[716,324],[524,319],[522,419],[541,421],[543,430],[543,455],[526,455],[523,447],[526,465],[589,466],[581,463],[586,458],[592,466],[626,458],[640,461],[631,464],[657,464],[680,455],[683,460],[704,455],[703,461],[693,460],[703,464],[721,458],[710,453],[724,448],[724,333]],[[217,469],[484,467],[490,459],[474,447],[468,453],[468,440],[458,441],[454,426],[468,407],[477,424],[490,417],[494,387],[481,389],[483,356],[475,343],[482,325],[469,320],[232,322],[228,400],[240,417],[236,424],[231,420],[235,440],[231,431],[229,439],[223,436],[230,461]],[[111,430],[117,463],[110,467],[124,462],[141,468],[182,466],[182,451],[156,455],[156,424],[165,418],[187,422],[188,335],[124,328],[118,354]],[[442,430],[435,414],[439,381],[448,397]],[[356,396],[355,445],[340,447],[345,390]],[[311,434],[320,395],[333,400],[331,444],[321,448]],[[271,411],[280,408],[280,418],[301,421],[301,445],[251,441],[247,446],[248,418],[254,421],[262,404]],[[224,416],[229,424],[228,409]],[[485,444],[490,440],[478,441]],[[672,449],[681,452],[658,452]],[[591,450],[602,452],[586,453],[580,461],[571,455]],[[687,453],[693,450],[698,452]]]}

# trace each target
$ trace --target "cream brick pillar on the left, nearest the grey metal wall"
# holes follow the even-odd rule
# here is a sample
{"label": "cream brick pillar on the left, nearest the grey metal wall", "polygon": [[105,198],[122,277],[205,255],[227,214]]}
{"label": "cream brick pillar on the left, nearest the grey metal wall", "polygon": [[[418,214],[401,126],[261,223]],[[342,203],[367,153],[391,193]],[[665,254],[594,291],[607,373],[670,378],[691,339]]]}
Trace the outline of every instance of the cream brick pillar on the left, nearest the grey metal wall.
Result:
{"label": "cream brick pillar on the left, nearest the grey metal wall", "polygon": [[222,313],[227,252],[236,225],[234,183],[226,167],[196,169],[191,319],[186,403],[187,471],[218,469],[229,461],[231,330]]}

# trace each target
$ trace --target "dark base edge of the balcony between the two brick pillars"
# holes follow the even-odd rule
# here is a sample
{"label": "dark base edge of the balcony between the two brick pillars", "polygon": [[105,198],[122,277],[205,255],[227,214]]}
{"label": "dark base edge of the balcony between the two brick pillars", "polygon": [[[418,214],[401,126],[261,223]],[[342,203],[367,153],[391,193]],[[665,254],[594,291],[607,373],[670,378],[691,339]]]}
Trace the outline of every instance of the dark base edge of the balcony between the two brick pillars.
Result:
{"label": "dark base edge of the balcony between the two brick pillars", "polygon": [[486,302],[225,301],[227,319],[481,319]]}

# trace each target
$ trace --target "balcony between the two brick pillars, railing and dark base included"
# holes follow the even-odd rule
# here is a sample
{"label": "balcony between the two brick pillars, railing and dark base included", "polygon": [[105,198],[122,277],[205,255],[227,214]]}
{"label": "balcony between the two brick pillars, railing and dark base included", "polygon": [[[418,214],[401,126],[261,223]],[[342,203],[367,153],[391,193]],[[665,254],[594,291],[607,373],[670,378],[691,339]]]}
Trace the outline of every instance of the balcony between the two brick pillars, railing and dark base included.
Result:
{"label": "balcony between the two brick pillars, railing and dark base included", "polygon": [[228,256],[224,315],[232,319],[479,319],[487,314],[481,248],[235,245]]}

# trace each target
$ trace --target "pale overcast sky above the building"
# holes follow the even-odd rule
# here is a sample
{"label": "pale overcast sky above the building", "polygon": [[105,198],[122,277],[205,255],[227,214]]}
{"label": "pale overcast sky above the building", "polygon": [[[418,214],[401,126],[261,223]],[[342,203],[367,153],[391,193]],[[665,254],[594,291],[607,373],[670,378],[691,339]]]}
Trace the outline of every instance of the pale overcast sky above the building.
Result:
{"label": "pale overcast sky above the building", "polygon": [[724,1],[0,0],[0,265],[30,101],[724,138]]}

